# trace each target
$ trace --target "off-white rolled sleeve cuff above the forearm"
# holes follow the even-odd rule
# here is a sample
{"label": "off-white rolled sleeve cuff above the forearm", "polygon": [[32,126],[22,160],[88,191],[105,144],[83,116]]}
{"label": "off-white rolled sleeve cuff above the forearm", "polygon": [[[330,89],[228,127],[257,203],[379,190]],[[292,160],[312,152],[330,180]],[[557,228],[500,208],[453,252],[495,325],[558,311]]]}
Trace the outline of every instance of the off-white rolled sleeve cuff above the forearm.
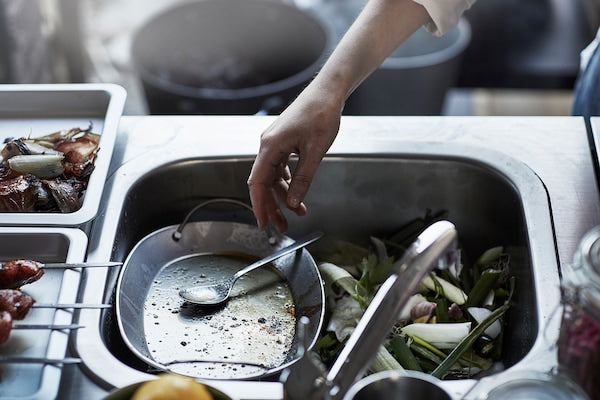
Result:
{"label": "off-white rolled sleeve cuff above the forearm", "polygon": [[425,28],[435,35],[443,35],[458,24],[461,15],[476,0],[413,0],[421,4],[431,17]]}

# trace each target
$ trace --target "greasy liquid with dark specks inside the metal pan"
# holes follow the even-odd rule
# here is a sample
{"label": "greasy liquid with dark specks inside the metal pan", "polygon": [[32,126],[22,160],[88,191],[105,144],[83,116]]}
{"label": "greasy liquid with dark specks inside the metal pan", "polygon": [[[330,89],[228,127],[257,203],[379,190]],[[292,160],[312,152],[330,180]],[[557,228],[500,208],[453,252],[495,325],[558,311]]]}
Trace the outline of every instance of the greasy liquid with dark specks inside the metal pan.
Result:
{"label": "greasy liquid with dark specks inside the metal pan", "polygon": [[196,254],[163,267],[144,304],[144,330],[152,358],[173,372],[198,378],[260,375],[287,357],[296,319],[291,292],[273,267],[239,278],[231,298],[206,308],[179,297],[184,287],[216,283],[254,260]]}

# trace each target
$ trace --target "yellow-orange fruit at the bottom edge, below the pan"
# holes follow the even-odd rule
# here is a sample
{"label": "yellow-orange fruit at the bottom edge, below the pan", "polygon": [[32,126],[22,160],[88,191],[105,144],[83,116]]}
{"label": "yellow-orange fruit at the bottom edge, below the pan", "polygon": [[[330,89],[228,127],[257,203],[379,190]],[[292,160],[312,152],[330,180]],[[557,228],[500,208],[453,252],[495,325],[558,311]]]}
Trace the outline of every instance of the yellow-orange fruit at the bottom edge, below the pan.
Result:
{"label": "yellow-orange fruit at the bottom edge, below the pan", "polygon": [[213,400],[205,385],[183,375],[160,374],[143,383],[131,400]]}

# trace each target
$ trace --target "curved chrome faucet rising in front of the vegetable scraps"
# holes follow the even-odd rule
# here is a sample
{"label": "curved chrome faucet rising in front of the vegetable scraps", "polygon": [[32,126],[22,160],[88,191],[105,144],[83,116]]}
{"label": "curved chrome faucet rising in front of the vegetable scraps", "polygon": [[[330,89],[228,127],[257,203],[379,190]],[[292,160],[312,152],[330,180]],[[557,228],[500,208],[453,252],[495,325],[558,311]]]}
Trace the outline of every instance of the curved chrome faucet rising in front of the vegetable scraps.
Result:
{"label": "curved chrome faucet rising in front of the vegetable scraps", "polygon": [[298,352],[301,358],[281,374],[286,400],[342,399],[357,378],[361,378],[377,349],[397,322],[397,315],[425,276],[434,268],[446,268],[456,259],[457,232],[448,221],[425,229],[393,266],[365,310],[344,349],[329,371],[325,371],[307,351],[300,319]]}

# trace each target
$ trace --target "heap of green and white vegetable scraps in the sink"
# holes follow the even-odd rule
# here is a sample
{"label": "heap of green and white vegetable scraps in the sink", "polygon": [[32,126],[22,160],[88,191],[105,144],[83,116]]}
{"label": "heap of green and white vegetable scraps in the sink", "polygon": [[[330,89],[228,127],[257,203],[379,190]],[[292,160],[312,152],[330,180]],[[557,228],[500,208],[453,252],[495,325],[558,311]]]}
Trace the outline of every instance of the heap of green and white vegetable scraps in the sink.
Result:
{"label": "heap of green and white vegetable scraps in the sink", "polygon": [[[427,212],[372,246],[333,239],[313,251],[325,282],[326,328],[314,351],[331,366],[392,266],[430,224],[445,212]],[[472,265],[464,250],[450,268],[434,270],[409,299],[380,347],[369,372],[410,369],[441,379],[464,379],[501,362],[503,316],[515,280],[509,274],[511,249],[496,246]]]}

